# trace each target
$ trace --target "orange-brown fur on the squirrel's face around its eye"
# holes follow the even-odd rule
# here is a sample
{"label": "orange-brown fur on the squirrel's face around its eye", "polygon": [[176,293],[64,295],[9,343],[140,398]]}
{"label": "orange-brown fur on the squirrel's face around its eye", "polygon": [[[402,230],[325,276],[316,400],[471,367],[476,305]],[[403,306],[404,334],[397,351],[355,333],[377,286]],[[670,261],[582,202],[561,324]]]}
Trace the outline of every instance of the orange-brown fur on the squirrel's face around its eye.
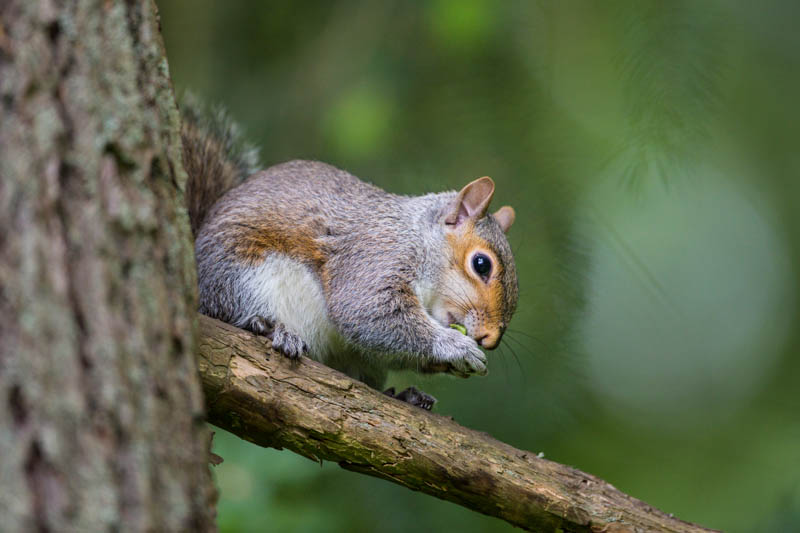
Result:
{"label": "orange-brown fur on the squirrel's face around its eye", "polygon": [[[475,234],[474,224],[471,222],[448,234],[447,240],[453,252],[453,268],[469,280],[474,291],[475,297],[470,298],[471,303],[482,304],[473,310],[478,326],[475,331],[470,332],[470,335],[476,340],[482,339],[480,344],[484,348],[495,348],[502,333],[504,302],[502,265],[489,243]],[[476,252],[486,254],[492,261],[488,282],[481,279],[470,266]]]}

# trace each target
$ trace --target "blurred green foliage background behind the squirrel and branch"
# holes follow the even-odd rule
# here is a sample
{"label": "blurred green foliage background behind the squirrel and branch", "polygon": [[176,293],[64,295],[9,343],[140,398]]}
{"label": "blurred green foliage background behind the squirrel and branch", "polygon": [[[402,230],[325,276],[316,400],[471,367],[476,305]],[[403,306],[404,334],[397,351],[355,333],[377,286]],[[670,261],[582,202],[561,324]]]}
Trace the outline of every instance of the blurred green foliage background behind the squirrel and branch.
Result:
{"label": "blurred green foliage background behind the squirrel and branch", "polygon": [[[436,411],[686,520],[800,531],[800,4],[159,0],[176,89],[272,164],[489,175],[521,300]],[[504,531],[223,431],[234,531]]]}

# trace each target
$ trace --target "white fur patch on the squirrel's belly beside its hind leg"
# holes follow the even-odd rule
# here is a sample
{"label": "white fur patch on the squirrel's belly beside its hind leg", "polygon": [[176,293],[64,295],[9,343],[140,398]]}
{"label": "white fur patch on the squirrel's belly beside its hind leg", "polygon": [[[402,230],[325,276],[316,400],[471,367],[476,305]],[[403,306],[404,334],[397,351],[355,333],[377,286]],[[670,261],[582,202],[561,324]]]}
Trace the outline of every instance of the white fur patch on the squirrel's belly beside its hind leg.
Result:
{"label": "white fur patch on the squirrel's belly beside its hind leg", "polygon": [[324,362],[343,346],[328,318],[322,286],[306,265],[273,253],[259,266],[248,269],[241,283],[240,294],[249,300],[245,305],[249,316],[261,315],[283,323],[305,341],[312,358]]}

